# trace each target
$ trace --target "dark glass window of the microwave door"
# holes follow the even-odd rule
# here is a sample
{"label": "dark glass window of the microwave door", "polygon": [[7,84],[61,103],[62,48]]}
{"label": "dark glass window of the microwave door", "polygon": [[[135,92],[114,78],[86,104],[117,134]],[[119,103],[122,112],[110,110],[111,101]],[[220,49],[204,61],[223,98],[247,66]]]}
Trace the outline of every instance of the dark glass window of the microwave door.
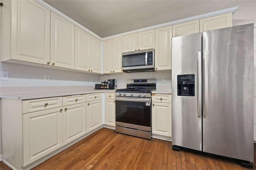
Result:
{"label": "dark glass window of the microwave door", "polygon": [[145,53],[123,55],[123,67],[146,65]]}

